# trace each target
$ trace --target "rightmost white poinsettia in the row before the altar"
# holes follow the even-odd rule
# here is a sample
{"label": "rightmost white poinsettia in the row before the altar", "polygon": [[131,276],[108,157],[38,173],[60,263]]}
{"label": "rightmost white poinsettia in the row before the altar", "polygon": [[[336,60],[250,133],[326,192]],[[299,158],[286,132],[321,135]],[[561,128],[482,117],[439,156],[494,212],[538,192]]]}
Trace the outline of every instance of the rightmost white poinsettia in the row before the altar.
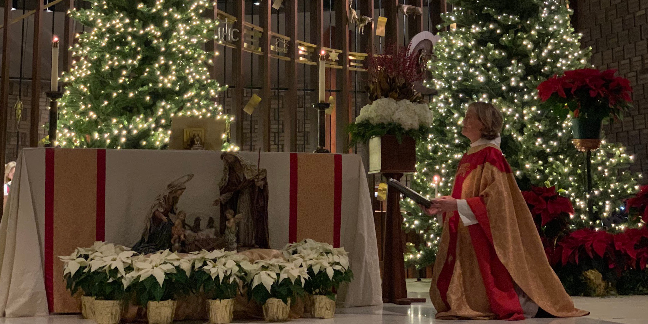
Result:
{"label": "rightmost white poinsettia in the row before the altar", "polygon": [[286,245],[284,254],[292,262],[301,262],[300,266],[307,270],[308,279],[303,285],[307,294],[326,295],[335,300],[340,284],[353,280],[349,253],[344,248],[306,239]]}

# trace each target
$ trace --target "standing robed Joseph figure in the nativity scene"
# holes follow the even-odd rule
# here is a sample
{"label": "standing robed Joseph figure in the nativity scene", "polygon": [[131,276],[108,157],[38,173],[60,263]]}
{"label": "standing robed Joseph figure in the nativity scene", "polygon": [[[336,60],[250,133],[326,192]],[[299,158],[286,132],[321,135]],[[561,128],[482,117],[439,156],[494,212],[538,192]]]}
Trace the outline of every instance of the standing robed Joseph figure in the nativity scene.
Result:
{"label": "standing robed Joseph figure in the nativity scene", "polygon": [[220,196],[220,234],[227,229],[227,211],[240,214],[237,229],[238,249],[270,248],[268,233],[268,179],[266,169],[236,153],[224,152],[223,178],[218,183]]}

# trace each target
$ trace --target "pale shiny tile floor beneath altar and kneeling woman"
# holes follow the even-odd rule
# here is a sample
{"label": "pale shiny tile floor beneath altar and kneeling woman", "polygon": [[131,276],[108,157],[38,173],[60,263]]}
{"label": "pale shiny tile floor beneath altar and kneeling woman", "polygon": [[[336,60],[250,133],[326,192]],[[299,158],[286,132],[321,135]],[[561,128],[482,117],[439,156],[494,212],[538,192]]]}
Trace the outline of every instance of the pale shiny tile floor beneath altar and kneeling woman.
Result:
{"label": "pale shiny tile floor beneath altar and kneeling woman", "polygon": [[[294,319],[291,324],[452,324],[488,323],[503,324],[506,321],[440,321],[434,319],[436,311],[429,301],[430,281],[408,282],[410,297],[426,297],[427,303],[410,306],[386,304],[375,307],[339,309],[334,319]],[[589,310],[584,318],[538,318],[527,319],[520,324],[648,324],[648,295],[608,298],[575,297],[576,307]],[[249,323],[249,321],[235,321]],[[80,319],[80,316],[49,316],[44,318],[0,318],[0,324],[92,324],[95,321]],[[186,324],[203,322],[183,321]],[[263,323],[259,321],[258,323]]]}

